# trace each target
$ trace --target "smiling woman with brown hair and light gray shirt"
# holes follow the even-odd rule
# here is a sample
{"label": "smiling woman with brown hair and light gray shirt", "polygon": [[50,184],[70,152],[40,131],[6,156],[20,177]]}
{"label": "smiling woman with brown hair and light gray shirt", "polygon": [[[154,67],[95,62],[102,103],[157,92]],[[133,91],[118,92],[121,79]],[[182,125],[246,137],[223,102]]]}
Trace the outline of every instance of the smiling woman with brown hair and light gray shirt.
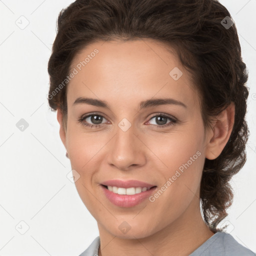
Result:
{"label": "smiling woman with brown hair and light gray shirt", "polygon": [[80,255],[254,255],[217,228],[248,137],[226,8],[76,0],[57,25],[48,101],[99,230]]}

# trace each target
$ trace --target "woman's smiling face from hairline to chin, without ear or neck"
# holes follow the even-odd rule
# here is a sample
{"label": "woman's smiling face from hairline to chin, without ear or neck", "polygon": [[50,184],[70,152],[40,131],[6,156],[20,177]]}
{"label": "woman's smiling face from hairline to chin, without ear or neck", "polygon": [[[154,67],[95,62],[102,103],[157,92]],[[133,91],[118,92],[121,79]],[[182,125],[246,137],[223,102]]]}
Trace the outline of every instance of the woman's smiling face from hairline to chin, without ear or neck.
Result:
{"label": "woman's smiling face from hairline to chin, without ear or neck", "polygon": [[199,210],[207,139],[178,58],[153,40],[100,41],[80,51],[70,70],[60,136],[99,232],[142,238],[188,224]]}

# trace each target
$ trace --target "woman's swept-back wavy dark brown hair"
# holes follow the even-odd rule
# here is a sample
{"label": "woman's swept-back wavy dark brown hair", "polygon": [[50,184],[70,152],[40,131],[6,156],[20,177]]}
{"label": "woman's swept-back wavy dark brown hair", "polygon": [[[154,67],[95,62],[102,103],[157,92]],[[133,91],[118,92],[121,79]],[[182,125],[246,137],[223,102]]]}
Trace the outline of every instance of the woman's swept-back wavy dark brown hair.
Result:
{"label": "woman's swept-back wavy dark brown hair", "polygon": [[231,22],[226,16],[230,13],[217,0],[76,0],[58,15],[48,62],[48,102],[52,109],[60,108],[64,118],[63,81],[70,63],[80,49],[96,40],[151,38],[171,46],[199,92],[204,129],[212,117],[234,102],[229,140],[217,158],[205,159],[200,184],[203,218],[213,232],[222,230],[216,226],[232,203],[228,181],[246,161],[249,134],[245,121],[248,73],[236,26],[225,27],[222,20]]}

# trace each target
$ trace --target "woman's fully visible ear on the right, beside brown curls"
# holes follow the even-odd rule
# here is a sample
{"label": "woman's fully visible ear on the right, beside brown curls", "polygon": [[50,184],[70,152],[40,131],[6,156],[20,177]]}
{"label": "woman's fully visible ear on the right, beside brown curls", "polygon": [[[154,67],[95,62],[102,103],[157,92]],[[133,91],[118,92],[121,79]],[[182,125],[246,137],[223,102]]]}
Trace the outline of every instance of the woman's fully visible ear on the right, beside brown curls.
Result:
{"label": "woman's fully visible ear on the right, beside brown curls", "polygon": [[207,140],[205,157],[209,160],[217,158],[226,145],[234,124],[235,106],[231,102],[214,121],[209,139]]}

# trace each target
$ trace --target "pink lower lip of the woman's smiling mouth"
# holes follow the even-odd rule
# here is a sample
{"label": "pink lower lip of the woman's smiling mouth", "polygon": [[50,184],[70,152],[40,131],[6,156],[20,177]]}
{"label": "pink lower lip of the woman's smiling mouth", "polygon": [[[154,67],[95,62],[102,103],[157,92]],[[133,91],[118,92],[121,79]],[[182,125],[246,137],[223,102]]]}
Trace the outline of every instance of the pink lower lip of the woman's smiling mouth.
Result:
{"label": "pink lower lip of the woman's smiling mouth", "polygon": [[146,190],[144,192],[140,192],[137,194],[116,194],[112,191],[108,190],[103,185],[100,185],[103,189],[103,192],[105,196],[108,198],[108,200],[113,203],[116,206],[119,207],[132,207],[139,203],[141,203],[143,200],[148,198],[150,194],[156,189],[156,187],[152,187],[149,190]]}

